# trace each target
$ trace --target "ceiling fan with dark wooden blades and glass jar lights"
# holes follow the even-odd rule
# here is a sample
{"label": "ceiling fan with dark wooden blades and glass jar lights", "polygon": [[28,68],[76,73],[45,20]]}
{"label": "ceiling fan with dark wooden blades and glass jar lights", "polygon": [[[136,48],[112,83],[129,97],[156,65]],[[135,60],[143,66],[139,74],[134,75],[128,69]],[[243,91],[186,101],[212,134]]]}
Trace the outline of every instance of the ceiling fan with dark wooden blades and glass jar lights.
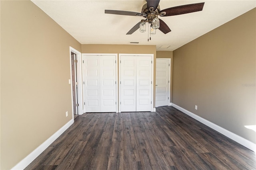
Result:
{"label": "ceiling fan with dark wooden blades and glass jar lights", "polygon": [[182,6],[176,6],[171,8],[166,8],[164,10],[160,10],[159,2],[160,0],[146,0],[146,4],[142,6],[141,13],[140,12],[131,12],[131,11],[120,11],[120,10],[105,10],[105,14],[117,14],[117,15],[126,15],[126,16],[142,16],[146,19],[138,22],[126,35],[130,35],[134,33],[137,29],[140,28],[140,32],[146,31],[146,22],[150,26],[150,35],[154,35],[156,33],[156,29],[159,29],[164,34],[171,31],[168,25],[158,16],[175,16],[180,14],[187,14],[191,12],[202,11],[204,7],[204,2],[197,4],[188,4]]}

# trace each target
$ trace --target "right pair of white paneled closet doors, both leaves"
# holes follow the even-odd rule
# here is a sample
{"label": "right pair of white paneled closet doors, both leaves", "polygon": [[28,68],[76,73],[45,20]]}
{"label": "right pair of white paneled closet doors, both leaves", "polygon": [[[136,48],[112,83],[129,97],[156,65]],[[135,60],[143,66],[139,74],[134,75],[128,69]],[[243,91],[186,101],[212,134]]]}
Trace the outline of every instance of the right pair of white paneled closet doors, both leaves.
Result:
{"label": "right pair of white paneled closet doors, both leaves", "polygon": [[152,57],[120,56],[120,111],[151,111]]}

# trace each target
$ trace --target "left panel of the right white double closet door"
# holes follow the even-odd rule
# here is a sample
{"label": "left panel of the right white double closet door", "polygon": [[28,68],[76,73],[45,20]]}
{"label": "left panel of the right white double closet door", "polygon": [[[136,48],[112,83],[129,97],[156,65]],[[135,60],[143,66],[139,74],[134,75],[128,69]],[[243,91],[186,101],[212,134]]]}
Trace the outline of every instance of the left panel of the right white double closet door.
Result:
{"label": "left panel of the right white double closet door", "polygon": [[136,58],[121,56],[120,102],[121,111],[136,111]]}

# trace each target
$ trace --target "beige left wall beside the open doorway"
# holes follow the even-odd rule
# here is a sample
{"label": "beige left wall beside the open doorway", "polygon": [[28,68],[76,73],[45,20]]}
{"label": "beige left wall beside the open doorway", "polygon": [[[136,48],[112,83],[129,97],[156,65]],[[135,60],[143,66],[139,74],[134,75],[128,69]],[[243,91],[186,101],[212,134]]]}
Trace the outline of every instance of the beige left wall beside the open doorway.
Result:
{"label": "beige left wall beside the open doorway", "polygon": [[0,3],[0,169],[6,170],[72,119],[69,46],[81,51],[81,44],[31,1]]}

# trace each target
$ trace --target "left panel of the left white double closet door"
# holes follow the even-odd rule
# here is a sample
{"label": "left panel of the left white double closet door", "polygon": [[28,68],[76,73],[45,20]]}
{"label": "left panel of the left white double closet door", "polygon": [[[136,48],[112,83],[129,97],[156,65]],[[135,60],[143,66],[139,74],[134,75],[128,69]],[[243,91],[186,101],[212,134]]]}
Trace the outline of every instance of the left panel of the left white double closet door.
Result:
{"label": "left panel of the left white double closet door", "polygon": [[84,102],[86,112],[100,112],[100,62],[97,56],[84,57]]}

